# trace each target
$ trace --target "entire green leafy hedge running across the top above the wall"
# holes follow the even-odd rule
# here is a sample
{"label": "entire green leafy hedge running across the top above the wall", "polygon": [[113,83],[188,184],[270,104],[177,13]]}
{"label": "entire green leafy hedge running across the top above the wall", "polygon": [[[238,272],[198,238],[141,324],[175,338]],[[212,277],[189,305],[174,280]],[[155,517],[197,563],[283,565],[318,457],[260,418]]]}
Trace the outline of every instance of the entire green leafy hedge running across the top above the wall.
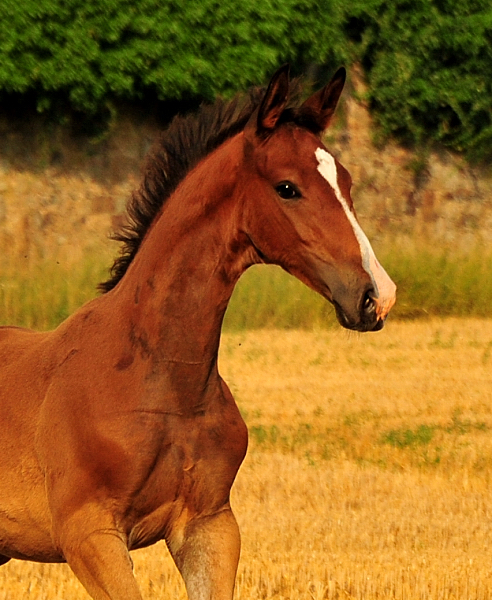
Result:
{"label": "entire green leafy hedge running across the top above the wall", "polygon": [[[2,0],[0,99],[212,100],[360,62],[381,137],[492,158],[490,0]],[[329,69],[326,66],[329,64]]]}

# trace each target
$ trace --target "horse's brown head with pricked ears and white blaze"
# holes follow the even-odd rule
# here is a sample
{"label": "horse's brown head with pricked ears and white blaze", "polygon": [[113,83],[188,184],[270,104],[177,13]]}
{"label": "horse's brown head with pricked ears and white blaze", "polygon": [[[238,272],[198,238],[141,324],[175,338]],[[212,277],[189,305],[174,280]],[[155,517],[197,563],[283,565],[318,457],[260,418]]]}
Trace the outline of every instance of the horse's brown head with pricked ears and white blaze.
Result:
{"label": "horse's brown head with pricked ears and white blaze", "polygon": [[244,132],[243,227],[256,260],[280,265],[322,294],[344,327],[374,331],[396,286],[357,221],[349,173],[320,140],[344,82],[339,69],[292,109],[288,68],[273,76]]}

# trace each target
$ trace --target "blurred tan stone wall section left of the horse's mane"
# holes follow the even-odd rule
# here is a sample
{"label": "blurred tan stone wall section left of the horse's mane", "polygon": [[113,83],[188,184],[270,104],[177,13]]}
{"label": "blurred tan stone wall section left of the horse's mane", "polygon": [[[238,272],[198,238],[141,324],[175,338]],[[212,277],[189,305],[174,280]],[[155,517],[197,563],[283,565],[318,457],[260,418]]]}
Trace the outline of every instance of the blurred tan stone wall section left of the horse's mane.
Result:
{"label": "blurred tan stone wall section left of the horse's mane", "polygon": [[[104,185],[88,177],[0,171],[0,249],[4,260],[76,263],[100,251],[122,212],[130,180]],[[115,248],[116,251],[116,248]]]}

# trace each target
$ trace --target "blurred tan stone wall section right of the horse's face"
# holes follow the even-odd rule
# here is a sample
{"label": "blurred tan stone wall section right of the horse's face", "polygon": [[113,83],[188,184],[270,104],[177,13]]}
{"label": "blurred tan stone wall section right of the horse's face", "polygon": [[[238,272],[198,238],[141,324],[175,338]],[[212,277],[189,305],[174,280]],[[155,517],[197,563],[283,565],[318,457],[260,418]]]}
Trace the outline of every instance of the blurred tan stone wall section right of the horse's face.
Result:
{"label": "blurred tan stone wall section right of the horse's face", "polygon": [[[357,73],[356,90],[364,91]],[[359,219],[372,237],[424,238],[466,250],[492,242],[492,177],[442,151],[425,163],[410,150],[376,148],[365,106],[349,99],[345,123],[333,145],[353,179]]]}

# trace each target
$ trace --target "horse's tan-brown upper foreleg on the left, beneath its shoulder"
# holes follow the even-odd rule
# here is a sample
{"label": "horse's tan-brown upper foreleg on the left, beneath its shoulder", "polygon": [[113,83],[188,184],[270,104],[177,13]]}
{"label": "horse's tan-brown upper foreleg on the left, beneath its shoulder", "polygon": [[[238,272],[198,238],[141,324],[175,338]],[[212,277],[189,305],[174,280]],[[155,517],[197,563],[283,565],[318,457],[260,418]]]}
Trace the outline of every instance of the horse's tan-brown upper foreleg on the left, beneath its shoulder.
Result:
{"label": "horse's tan-brown upper foreleg on the left, beneath its shoulder", "polygon": [[101,529],[76,539],[65,538],[63,553],[72,571],[94,600],[142,600],[123,537]]}

